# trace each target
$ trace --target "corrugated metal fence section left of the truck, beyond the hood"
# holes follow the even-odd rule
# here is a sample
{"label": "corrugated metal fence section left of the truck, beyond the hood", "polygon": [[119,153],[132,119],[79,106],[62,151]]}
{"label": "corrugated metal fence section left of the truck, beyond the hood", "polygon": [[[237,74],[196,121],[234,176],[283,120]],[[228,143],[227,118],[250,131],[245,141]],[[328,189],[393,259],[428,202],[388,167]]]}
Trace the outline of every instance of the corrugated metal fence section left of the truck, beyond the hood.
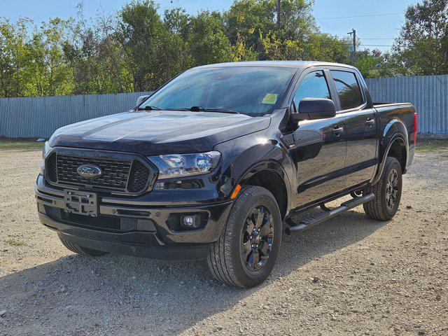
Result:
{"label": "corrugated metal fence section left of the truck, beyond the hood", "polygon": [[0,99],[0,137],[48,138],[59,127],[125,112],[146,92]]}

